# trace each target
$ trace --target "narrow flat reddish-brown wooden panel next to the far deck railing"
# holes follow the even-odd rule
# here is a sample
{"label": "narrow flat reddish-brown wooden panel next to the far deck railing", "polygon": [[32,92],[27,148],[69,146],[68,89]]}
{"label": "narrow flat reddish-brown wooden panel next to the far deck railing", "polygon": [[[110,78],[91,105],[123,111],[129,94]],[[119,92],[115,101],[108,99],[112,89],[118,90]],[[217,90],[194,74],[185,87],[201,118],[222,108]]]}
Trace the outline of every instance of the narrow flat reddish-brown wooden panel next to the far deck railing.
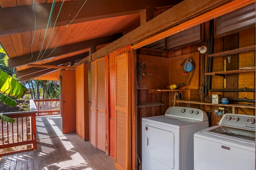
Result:
{"label": "narrow flat reddish-brown wooden panel next to the far deck railing", "polygon": [[75,71],[62,70],[62,133],[76,132]]}

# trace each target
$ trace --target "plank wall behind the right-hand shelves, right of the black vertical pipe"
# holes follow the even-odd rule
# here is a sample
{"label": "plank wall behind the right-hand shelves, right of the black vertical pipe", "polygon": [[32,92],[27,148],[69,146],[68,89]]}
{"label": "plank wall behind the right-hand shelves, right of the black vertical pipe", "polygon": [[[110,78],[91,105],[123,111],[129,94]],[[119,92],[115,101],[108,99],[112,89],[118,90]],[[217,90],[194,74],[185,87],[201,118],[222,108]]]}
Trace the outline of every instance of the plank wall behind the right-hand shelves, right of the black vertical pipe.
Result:
{"label": "plank wall behind the right-hand shelves, right of the black vertical pipe", "polygon": [[[221,51],[246,47],[255,45],[255,27],[244,29],[238,33],[227,35],[225,37],[216,37],[214,39],[214,53]],[[226,70],[238,70],[243,67],[255,66],[255,51],[246,53],[240,53],[231,55],[230,63],[228,63],[228,57],[213,57],[212,71],[223,71],[224,60],[226,60]],[[221,89],[224,88],[224,78],[222,76],[212,76],[212,88]],[[243,89],[254,88],[255,89],[255,72],[239,73],[239,74],[227,74],[226,75],[226,89]],[[225,98],[247,98],[255,99],[254,92],[212,92],[212,94],[220,94]],[[234,102],[240,104],[253,104],[246,102]],[[209,106],[208,106],[209,107]],[[211,107],[212,111],[218,109],[218,107]],[[214,112],[213,112],[214,113]],[[232,107],[225,107],[225,113],[232,113]],[[255,115],[254,109],[247,108],[235,108],[235,113]],[[220,116],[212,114],[212,124],[217,125],[220,121]]]}

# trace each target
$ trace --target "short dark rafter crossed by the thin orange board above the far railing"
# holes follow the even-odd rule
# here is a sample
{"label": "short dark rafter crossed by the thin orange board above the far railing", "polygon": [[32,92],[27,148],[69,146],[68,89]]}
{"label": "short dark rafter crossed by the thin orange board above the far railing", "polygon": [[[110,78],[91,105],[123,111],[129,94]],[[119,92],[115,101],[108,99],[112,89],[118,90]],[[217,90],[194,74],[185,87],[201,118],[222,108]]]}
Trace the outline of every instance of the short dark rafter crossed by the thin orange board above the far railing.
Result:
{"label": "short dark rafter crossed by the thin orange board above the far railing", "polygon": [[[84,59],[88,55],[89,55],[89,53],[83,53],[83,54],[75,55],[75,56],[68,57],[68,58],[65,58],[65,59],[60,59],[60,60],[57,60],[57,61],[53,61],[53,62],[47,63],[47,65],[59,66],[61,64],[65,64],[65,63],[74,63],[77,60]],[[20,71],[16,72],[16,77],[20,78],[20,77],[23,77],[23,76],[28,76],[30,74],[41,72],[41,71],[44,71],[44,70],[47,70],[47,69],[48,68],[35,68],[35,67],[33,67],[33,68],[25,69],[25,70],[20,70]]]}

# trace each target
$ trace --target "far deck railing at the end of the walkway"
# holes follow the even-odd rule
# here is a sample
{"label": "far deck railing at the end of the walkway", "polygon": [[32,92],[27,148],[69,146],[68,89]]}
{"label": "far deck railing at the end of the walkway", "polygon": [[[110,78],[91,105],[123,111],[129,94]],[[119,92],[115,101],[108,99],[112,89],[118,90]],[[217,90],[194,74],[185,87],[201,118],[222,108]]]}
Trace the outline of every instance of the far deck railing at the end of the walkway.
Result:
{"label": "far deck railing at the end of the walkway", "polygon": [[37,115],[60,114],[60,99],[35,99]]}

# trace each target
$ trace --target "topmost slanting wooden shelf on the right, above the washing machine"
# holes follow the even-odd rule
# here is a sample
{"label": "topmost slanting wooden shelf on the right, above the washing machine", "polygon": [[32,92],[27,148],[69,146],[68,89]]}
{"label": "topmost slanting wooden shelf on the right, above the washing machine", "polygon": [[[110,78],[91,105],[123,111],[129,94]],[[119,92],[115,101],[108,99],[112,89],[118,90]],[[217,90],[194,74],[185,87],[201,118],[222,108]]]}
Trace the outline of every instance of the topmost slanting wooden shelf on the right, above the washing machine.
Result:
{"label": "topmost slanting wooden shelf on the right, above the washing machine", "polygon": [[255,45],[248,46],[248,47],[242,47],[242,48],[239,48],[239,49],[223,51],[223,52],[220,52],[220,53],[209,54],[207,56],[208,57],[222,57],[222,56],[226,56],[226,55],[234,55],[234,54],[238,54],[238,53],[245,53],[245,52],[248,52],[248,51],[255,51]]}

